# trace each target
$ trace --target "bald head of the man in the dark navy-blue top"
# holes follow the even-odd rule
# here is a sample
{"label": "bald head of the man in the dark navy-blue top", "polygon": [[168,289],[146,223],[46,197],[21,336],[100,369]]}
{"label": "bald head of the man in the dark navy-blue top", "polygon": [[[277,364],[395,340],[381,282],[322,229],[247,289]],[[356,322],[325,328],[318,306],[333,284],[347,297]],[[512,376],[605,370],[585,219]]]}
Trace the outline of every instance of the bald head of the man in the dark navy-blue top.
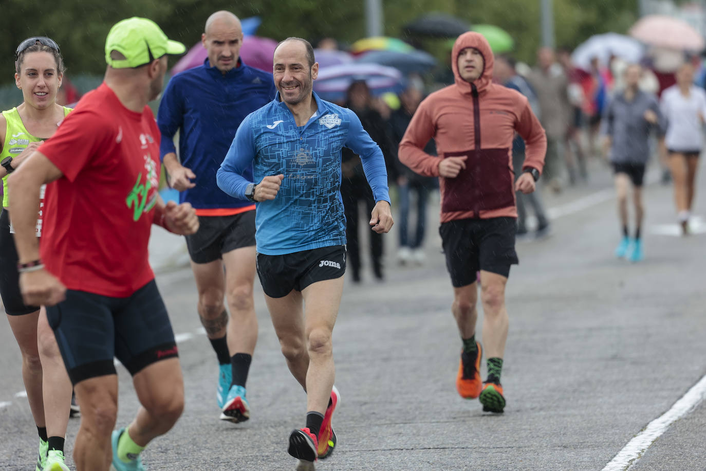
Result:
{"label": "bald head of the man in the dark navy-blue top", "polygon": [[210,66],[225,74],[238,65],[243,45],[243,28],[237,16],[229,11],[217,11],[206,20],[201,43],[208,51]]}

